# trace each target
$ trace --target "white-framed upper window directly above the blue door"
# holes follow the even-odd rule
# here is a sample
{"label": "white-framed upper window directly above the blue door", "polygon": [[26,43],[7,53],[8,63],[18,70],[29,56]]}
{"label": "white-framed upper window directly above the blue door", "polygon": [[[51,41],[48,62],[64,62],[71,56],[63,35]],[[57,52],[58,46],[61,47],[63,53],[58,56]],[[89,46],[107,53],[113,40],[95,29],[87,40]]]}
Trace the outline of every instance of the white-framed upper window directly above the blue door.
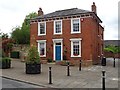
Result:
{"label": "white-framed upper window directly above the blue door", "polygon": [[62,20],[54,21],[54,34],[62,34]]}

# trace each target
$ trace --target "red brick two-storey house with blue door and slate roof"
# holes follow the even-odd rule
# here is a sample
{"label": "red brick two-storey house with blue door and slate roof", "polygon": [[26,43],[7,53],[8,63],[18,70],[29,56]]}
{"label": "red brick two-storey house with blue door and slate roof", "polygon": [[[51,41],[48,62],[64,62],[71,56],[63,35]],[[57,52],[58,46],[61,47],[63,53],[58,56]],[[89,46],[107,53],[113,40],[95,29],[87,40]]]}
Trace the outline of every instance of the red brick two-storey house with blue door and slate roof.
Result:
{"label": "red brick two-storey house with blue door and slate roof", "polygon": [[30,23],[30,44],[38,47],[41,60],[100,62],[104,28],[95,3],[91,9],[72,8],[45,15],[38,10],[38,17]]}

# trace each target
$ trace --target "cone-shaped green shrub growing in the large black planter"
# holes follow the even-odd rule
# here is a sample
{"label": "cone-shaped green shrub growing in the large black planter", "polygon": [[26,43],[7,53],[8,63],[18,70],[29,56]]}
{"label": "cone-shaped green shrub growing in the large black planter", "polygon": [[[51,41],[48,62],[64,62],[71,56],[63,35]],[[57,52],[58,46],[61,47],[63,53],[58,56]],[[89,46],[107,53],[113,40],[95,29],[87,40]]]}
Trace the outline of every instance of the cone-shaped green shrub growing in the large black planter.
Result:
{"label": "cone-shaped green shrub growing in the large black planter", "polygon": [[28,55],[26,58],[27,64],[39,64],[40,63],[40,56],[35,46],[31,46]]}

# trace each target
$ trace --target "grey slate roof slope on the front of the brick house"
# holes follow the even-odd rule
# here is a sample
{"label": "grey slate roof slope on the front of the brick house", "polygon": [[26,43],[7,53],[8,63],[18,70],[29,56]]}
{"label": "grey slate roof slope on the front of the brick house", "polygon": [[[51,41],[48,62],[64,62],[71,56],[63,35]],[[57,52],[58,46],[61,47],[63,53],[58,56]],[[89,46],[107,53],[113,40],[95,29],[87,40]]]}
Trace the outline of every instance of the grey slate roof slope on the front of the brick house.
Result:
{"label": "grey slate roof slope on the front of the brick house", "polygon": [[36,19],[70,16],[70,15],[76,15],[76,14],[82,14],[82,13],[88,13],[88,12],[91,12],[91,11],[82,10],[78,8],[71,8],[71,9],[65,9],[65,10],[58,10],[49,14],[45,14],[43,16],[38,16],[36,17]]}

